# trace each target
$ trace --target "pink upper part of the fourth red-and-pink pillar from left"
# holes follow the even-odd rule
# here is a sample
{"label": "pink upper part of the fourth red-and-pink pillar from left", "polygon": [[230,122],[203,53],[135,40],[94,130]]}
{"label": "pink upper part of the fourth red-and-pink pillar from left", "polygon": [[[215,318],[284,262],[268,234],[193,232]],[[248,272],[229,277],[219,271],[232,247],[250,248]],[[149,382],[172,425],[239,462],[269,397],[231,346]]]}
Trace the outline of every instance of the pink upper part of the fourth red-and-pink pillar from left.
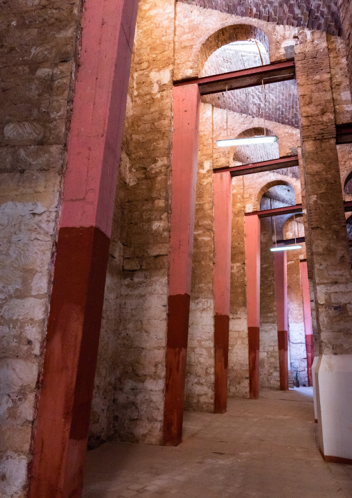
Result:
{"label": "pink upper part of the fourth red-and-pink pillar from left", "polygon": [[245,216],[245,255],[247,277],[247,326],[260,326],[261,299],[261,221]]}

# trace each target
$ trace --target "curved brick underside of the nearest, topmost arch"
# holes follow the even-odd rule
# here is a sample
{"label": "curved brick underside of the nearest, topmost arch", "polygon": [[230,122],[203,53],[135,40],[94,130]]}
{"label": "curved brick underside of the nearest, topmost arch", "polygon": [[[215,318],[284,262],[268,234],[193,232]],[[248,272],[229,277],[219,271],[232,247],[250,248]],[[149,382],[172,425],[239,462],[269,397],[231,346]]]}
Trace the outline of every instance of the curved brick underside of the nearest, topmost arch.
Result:
{"label": "curved brick underside of the nearest, topmost arch", "polygon": [[215,31],[215,33],[211,34],[200,47],[198,54],[198,74],[202,74],[204,64],[211,54],[222,46],[232,42],[251,40],[253,38],[258,42],[261,42],[267,53],[269,53],[269,40],[267,35],[257,26],[253,26],[252,24],[231,24],[230,26],[225,26],[224,28]]}

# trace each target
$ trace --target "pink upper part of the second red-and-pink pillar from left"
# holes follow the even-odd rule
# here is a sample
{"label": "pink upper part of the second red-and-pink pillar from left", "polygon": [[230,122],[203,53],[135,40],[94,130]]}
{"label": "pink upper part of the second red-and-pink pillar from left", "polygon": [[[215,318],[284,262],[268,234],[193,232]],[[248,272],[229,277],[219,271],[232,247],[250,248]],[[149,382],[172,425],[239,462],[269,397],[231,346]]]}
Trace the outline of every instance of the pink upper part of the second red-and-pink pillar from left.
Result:
{"label": "pink upper part of the second red-and-pink pillar from left", "polygon": [[175,87],[169,295],[191,293],[199,122],[198,85]]}

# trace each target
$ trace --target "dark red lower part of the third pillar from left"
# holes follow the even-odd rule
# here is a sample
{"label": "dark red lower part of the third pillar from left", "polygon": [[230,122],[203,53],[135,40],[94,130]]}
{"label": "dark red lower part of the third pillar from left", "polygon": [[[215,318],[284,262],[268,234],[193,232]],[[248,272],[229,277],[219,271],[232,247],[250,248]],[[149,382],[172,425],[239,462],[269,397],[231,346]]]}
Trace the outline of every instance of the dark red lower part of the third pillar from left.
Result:
{"label": "dark red lower part of the third pillar from left", "polygon": [[226,315],[214,316],[215,385],[214,413],[227,410],[227,364],[229,360],[229,323]]}

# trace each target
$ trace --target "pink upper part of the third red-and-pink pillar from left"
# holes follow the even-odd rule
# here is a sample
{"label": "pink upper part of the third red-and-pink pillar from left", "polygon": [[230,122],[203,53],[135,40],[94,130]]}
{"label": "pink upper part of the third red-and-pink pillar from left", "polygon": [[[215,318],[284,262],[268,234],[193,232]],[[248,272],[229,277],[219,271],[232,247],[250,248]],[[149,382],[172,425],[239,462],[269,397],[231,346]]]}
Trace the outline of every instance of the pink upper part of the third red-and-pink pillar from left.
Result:
{"label": "pink upper part of the third red-and-pink pillar from left", "polygon": [[213,175],[214,191],[214,313],[230,312],[232,178]]}

